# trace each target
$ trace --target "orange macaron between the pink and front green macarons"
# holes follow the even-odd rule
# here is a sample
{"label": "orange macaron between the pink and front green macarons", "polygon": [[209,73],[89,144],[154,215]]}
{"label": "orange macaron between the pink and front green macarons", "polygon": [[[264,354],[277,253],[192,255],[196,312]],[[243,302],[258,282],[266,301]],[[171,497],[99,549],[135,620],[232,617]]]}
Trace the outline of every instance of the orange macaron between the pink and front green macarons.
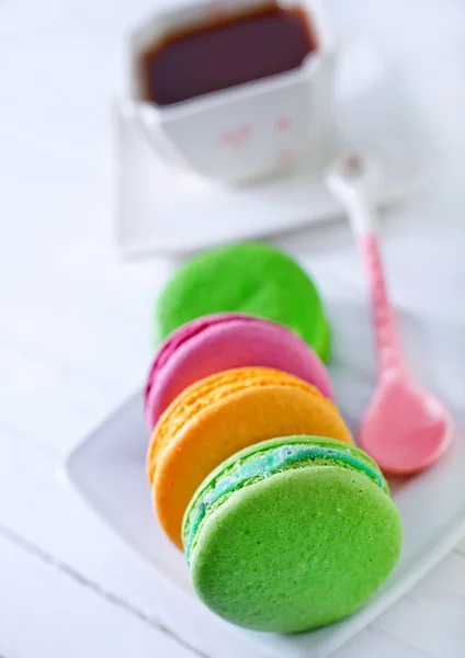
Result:
{"label": "orange macaron between the pink and front green macarons", "polygon": [[352,443],[332,401],[281,371],[235,368],[185,388],[160,417],[147,454],[155,509],[170,540],[182,546],[184,511],[214,468],[243,447],[288,434]]}

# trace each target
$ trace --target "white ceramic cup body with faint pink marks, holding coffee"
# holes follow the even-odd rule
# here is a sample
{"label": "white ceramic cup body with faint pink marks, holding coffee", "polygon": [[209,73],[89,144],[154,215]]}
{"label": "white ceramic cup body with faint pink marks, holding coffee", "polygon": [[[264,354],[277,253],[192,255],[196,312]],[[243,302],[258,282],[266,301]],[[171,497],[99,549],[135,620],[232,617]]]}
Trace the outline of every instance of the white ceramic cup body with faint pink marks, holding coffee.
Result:
{"label": "white ceramic cup body with faint pink marks, holding coffee", "polygon": [[131,37],[131,104],[134,121],[167,163],[226,183],[242,183],[318,159],[332,127],[334,45],[318,0],[283,1],[303,8],[318,48],[296,69],[212,92],[173,105],[143,100],[140,54],[166,34],[205,24],[266,0],[201,1],[159,13]]}

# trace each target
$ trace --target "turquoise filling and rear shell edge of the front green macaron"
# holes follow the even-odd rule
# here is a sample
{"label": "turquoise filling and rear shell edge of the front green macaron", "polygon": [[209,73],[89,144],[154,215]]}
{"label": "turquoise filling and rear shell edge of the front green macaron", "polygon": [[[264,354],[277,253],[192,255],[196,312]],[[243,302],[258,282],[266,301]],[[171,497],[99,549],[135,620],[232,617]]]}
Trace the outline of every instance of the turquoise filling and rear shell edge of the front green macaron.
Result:
{"label": "turquoise filling and rear shell edge of the front green macaron", "polygon": [[[272,440],[271,443],[274,442],[275,440]],[[354,453],[360,451],[355,446],[345,446],[336,441],[329,441],[329,443],[339,443],[341,447],[311,444],[310,442],[283,442],[281,445],[273,445],[249,455],[243,462],[239,461],[238,465],[232,464],[223,474],[218,474],[216,480],[213,479],[212,485],[204,488],[203,492],[201,491],[186,512],[183,544],[188,564],[190,564],[191,549],[202,522],[213,509],[216,509],[219,501],[223,502],[229,495],[242,487],[276,473],[298,467],[340,466],[364,474],[387,492],[387,485],[382,473],[364,453],[356,455]],[[258,447],[256,446],[256,449]]]}

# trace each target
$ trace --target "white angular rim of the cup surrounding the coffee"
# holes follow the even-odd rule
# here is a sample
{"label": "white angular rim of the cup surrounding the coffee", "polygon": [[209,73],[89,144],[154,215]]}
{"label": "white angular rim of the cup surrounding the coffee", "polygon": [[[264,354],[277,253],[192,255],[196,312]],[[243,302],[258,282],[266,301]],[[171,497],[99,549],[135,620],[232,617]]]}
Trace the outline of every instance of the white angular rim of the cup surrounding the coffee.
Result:
{"label": "white angular rim of the cup surrounding the coffee", "polygon": [[[234,7],[237,7],[234,0],[226,1]],[[316,68],[317,64],[321,61],[322,58],[332,56],[334,53],[334,43],[329,29],[327,12],[322,8],[321,0],[277,0],[277,4],[284,7],[302,7],[306,14],[318,25],[317,36],[319,47],[317,50],[308,53],[298,67],[258,80],[242,82],[235,87],[212,91],[171,105],[157,105],[156,103],[140,99],[140,91],[137,89],[136,69],[141,42],[146,41],[147,37],[144,35],[147,35],[149,32],[149,26],[152,26],[157,20],[159,21],[162,18],[172,19],[173,16],[185,15],[185,13],[204,8],[207,4],[209,4],[208,0],[197,0],[186,7],[162,10],[152,14],[141,26],[133,30],[129,35],[129,95],[134,102],[150,107],[151,112],[162,114],[166,118],[179,118],[191,113],[201,112],[206,107],[222,106],[239,101],[245,97],[259,95],[280,87],[285,88],[298,83],[311,73],[313,69]],[[250,7],[260,4],[266,4],[266,0],[258,0],[254,3],[251,3]]]}

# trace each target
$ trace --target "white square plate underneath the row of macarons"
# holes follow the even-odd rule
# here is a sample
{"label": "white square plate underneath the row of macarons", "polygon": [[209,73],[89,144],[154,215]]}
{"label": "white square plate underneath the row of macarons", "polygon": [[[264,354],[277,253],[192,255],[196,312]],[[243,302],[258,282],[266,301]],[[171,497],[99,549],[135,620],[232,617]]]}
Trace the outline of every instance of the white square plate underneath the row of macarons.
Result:
{"label": "white square plate underneath the row of macarons", "polygon": [[[365,311],[354,308],[353,303],[338,302],[336,306],[329,303],[329,309],[332,319],[338,319],[333,326],[343,327],[334,332],[332,377],[344,417],[356,422],[373,386],[373,363],[363,356],[370,354],[368,324],[364,321]],[[416,375],[423,381],[424,372],[420,373],[419,366],[426,361],[424,353],[431,354],[429,368],[434,365],[433,345],[424,343],[424,331],[411,315],[402,314],[400,326],[410,362],[417,361]],[[445,363],[442,355],[440,366]],[[436,381],[434,373],[432,378]],[[402,518],[402,554],[392,577],[365,608],[343,622],[311,633],[279,636],[243,631],[213,615],[196,599],[183,555],[168,542],[156,522],[145,474],[147,442],[143,399],[137,394],[75,450],[65,472],[102,519],[156,569],[160,583],[157,615],[208,655],[328,656],[412,587],[465,534],[463,424],[455,433],[451,451],[438,465],[416,478],[390,483]]]}

